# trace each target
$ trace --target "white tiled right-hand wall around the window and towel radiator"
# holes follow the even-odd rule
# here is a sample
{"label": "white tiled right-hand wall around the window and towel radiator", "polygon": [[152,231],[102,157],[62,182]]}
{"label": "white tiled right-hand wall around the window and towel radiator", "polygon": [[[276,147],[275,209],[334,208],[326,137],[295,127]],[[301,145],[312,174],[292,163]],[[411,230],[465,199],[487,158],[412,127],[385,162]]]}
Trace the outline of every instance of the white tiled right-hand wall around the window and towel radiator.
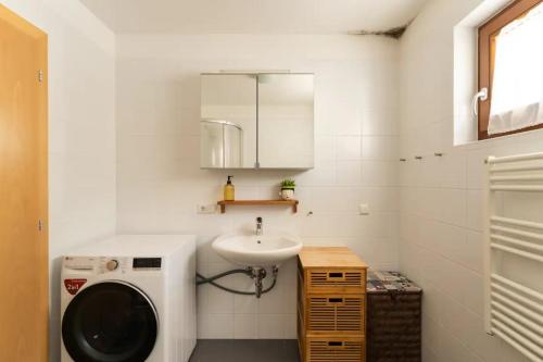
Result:
{"label": "white tiled right-hand wall around the window and towel radiator", "polygon": [[[400,259],[425,290],[427,362],[523,361],[483,330],[483,160],[541,152],[543,133],[453,147],[453,27],[481,2],[432,0],[401,40]],[[543,200],[527,201],[513,196],[504,212],[541,221]]]}

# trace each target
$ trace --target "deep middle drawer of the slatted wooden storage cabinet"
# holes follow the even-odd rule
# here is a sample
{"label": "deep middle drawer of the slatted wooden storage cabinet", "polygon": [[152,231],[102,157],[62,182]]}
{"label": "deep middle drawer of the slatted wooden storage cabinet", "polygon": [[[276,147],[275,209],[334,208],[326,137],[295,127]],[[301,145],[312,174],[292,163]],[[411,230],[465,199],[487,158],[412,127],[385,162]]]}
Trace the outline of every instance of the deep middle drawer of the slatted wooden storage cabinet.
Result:
{"label": "deep middle drawer of the slatted wooden storage cabinet", "polygon": [[365,334],[364,295],[312,295],[306,300],[308,333]]}

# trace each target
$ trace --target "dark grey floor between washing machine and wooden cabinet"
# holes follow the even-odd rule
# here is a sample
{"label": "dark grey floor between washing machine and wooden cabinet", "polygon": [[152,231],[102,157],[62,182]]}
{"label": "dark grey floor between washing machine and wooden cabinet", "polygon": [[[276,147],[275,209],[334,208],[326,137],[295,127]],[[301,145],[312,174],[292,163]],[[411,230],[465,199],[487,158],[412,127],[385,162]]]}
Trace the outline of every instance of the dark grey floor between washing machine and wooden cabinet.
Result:
{"label": "dark grey floor between washing machine and wooden cabinet", "polygon": [[201,339],[189,362],[299,362],[295,339]]}

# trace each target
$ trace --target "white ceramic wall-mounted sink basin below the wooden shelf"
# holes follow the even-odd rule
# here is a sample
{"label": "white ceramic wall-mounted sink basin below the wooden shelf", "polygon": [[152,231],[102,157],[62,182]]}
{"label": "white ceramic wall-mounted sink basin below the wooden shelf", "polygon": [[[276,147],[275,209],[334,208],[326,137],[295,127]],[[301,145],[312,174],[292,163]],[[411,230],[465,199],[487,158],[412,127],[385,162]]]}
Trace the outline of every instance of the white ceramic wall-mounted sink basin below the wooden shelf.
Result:
{"label": "white ceramic wall-mounted sink basin below the wooden shelf", "polygon": [[226,260],[243,266],[273,266],[298,255],[302,241],[288,235],[223,235],[213,249]]}

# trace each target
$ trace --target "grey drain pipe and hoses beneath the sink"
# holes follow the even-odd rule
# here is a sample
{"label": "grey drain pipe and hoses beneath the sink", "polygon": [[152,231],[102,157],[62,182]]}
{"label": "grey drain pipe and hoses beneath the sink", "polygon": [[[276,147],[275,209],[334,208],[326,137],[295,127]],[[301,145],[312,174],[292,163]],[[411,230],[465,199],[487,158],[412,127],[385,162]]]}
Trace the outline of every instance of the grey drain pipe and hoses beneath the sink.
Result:
{"label": "grey drain pipe and hoses beneath the sink", "polygon": [[[231,271],[227,271],[211,277],[205,277],[200,273],[197,273],[197,286],[201,286],[204,284],[211,284],[212,286],[223,289],[228,292],[232,292],[235,295],[240,295],[240,296],[255,296],[256,298],[261,298],[262,295],[274,289],[274,287],[277,284],[277,275],[279,274],[279,269],[277,266],[274,266],[273,270],[273,276],[274,279],[272,280],[272,285],[267,288],[264,289],[262,280],[266,277],[266,270],[263,267],[248,267],[248,269],[235,269]],[[251,277],[254,279],[254,285],[255,285],[255,291],[242,291],[242,290],[236,290],[231,289],[228,287],[225,287],[218,283],[215,283],[215,280],[220,279],[225,276],[228,275],[233,275],[233,274],[245,274],[247,276]]]}

